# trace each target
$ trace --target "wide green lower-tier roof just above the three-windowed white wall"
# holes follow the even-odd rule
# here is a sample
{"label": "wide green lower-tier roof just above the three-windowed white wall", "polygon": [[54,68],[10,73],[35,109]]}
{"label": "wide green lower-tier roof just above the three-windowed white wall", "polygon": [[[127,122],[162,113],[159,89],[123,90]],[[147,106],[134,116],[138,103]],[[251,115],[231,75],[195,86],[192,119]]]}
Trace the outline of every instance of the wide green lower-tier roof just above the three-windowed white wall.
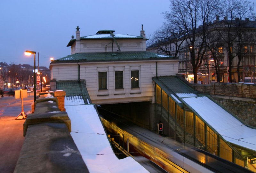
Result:
{"label": "wide green lower-tier roof just above the three-windowed white wall", "polygon": [[162,55],[159,53],[139,52],[102,52],[102,53],[75,53],[52,61],[54,63],[72,62],[100,62],[100,61],[141,61],[141,60],[178,60],[178,57]]}

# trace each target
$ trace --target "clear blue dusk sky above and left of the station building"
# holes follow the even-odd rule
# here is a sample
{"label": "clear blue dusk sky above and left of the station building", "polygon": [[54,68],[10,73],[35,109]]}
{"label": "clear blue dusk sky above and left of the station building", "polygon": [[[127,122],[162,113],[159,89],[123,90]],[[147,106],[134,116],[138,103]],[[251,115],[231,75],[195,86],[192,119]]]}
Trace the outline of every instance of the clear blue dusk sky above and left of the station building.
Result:
{"label": "clear blue dusk sky above and left of the station building", "polygon": [[[164,22],[162,12],[169,10],[169,0],[0,0],[0,62],[34,64],[39,52],[39,66],[49,67],[50,57],[70,55],[67,47],[76,26],[80,35],[94,35],[99,30],[146,37]],[[37,66],[37,53],[36,53]]]}

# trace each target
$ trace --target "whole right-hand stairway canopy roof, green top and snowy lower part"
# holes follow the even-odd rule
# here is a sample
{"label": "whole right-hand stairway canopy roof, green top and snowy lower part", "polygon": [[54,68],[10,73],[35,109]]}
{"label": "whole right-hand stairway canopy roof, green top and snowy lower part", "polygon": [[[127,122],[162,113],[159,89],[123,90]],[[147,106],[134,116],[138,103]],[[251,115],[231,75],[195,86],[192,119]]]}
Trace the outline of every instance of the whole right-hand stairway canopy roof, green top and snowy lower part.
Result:
{"label": "whole right-hand stairway canopy roof, green top and snowy lower part", "polygon": [[256,151],[256,129],[243,124],[206,96],[189,88],[176,76],[160,76],[153,80],[177,103],[188,106],[192,112],[208,124],[227,142]]}

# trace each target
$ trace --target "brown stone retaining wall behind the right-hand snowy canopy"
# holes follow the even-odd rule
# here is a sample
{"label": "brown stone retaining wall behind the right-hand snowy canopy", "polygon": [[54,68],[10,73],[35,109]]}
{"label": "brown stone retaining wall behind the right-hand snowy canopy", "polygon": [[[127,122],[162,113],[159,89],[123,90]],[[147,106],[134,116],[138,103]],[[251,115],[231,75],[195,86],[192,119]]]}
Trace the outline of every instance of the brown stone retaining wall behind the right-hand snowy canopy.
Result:
{"label": "brown stone retaining wall behind the right-hand snowy canopy", "polygon": [[241,82],[190,86],[199,93],[211,95],[246,124],[256,127],[256,84]]}

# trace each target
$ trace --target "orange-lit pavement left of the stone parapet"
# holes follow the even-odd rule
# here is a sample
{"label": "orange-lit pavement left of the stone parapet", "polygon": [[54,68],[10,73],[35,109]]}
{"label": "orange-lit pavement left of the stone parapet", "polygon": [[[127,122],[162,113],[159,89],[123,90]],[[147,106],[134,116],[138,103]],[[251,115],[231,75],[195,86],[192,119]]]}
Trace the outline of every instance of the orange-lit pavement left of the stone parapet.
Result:
{"label": "orange-lit pavement left of the stone parapet", "polygon": [[[24,112],[30,113],[34,95],[24,98]],[[21,112],[21,100],[15,97],[0,99],[0,173],[13,173],[18,161],[25,120],[15,120]]]}

